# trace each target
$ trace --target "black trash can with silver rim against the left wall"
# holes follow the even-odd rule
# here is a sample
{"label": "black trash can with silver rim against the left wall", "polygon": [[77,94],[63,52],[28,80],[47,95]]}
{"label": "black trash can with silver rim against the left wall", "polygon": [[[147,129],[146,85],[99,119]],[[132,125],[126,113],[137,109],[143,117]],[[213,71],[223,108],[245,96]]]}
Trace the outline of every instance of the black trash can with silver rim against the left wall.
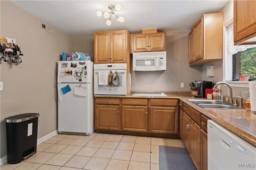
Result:
{"label": "black trash can with silver rim against the left wall", "polygon": [[18,164],[36,153],[38,113],[7,117],[7,162]]}

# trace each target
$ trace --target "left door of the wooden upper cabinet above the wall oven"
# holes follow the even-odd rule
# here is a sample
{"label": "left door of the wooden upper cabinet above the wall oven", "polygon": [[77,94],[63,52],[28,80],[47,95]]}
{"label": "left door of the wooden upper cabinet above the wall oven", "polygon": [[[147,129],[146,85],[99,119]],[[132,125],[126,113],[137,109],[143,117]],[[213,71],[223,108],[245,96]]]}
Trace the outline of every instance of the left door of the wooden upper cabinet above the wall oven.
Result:
{"label": "left door of the wooden upper cabinet above the wall oven", "polygon": [[110,32],[94,33],[94,64],[110,62]]}

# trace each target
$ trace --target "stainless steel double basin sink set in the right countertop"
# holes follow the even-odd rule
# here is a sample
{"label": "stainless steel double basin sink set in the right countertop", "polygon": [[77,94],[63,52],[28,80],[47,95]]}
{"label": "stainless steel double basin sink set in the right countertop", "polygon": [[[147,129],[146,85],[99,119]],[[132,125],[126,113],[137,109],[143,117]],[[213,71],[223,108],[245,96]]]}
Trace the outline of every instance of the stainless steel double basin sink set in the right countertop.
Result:
{"label": "stainless steel double basin sink set in the right countertop", "polygon": [[232,109],[232,110],[246,110],[244,107],[238,107],[229,105],[227,103],[218,102],[215,100],[197,100],[197,99],[188,99],[188,101],[197,104],[198,106],[204,109]]}

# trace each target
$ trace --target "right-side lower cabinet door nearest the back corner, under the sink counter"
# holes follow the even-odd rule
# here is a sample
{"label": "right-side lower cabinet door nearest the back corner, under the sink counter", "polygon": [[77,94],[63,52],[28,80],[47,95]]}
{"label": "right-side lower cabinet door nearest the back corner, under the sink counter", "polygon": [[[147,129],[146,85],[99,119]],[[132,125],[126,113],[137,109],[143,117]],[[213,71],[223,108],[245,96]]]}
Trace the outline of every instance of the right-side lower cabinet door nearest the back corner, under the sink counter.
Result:
{"label": "right-side lower cabinet door nearest the back corner, under the sink counter", "polygon": [[183,111],[183,143],[190,152],[190,117]]}

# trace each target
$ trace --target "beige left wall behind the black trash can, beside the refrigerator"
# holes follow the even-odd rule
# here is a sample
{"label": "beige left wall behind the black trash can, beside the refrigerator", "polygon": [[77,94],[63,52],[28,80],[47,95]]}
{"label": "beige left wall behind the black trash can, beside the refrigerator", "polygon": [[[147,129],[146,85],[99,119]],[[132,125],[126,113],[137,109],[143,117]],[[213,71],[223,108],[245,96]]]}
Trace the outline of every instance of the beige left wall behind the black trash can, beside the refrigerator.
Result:
{"label": "beige left wall behind the black trash can, beside the refrigerator", "polygon": [[[21,113],[40,113],[38,139],[57,130],[56,64],[63,51],[74,51],[74,38],[51,26],[40,29],[40,18],[10,1],[1,4],[1,38],[16,39],[21,47],[21,68],[1,63],[1,154],[7,155],[4,118]],[[2,55],[2,54],[1,54]]]}

